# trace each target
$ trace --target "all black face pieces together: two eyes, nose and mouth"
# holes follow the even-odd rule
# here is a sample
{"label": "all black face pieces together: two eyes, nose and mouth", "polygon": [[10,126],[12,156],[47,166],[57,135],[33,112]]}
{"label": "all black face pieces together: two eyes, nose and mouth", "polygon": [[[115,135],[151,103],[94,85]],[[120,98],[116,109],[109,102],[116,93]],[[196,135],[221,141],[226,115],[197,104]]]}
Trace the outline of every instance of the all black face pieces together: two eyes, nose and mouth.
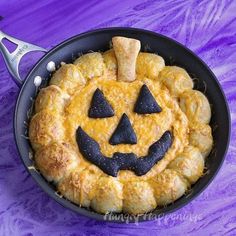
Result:
{"label": "all black face pieces together: two eyes, nose and mouth", "polygon": [[[137,114],[160,113],[161,108],[146,85],[141,87],[138,99],[135,103],[134,112]],[[114,116],[114,110],[104,97],[100,89],[93,94],[88,116],[90,118],[108,118]],[[81,127],[77,129],[76,139],[80,152],[83,156],[97,165],[105,173],[117,176],[119,170],[132,170],[137,175],[146,174],[162,157],[172,144],[172,136],[166,131],[162,137],[153,143],[148,154],[137,158],[134,153],[116,152],[112,158],[105,157],[100,150],[99,144],[91,138]],[[137,136],[130,123],[128,116],[123,113],[120,121],[109,139],[111,145],[137,144]]]}

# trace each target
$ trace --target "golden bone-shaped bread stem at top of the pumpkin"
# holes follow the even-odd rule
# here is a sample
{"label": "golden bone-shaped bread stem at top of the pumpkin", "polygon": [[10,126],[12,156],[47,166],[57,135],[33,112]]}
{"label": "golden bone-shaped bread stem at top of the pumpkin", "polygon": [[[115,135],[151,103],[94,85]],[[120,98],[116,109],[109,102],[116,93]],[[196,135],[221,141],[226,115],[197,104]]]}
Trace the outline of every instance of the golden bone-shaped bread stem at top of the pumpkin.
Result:
{"label": "golden bone-shaped bread stem at top of the pumpkin", "polygon": [[140,41],[125,37],[113,37],[113,48],[118,63],[118,80],[135,80],[136,59],[140,51]]}

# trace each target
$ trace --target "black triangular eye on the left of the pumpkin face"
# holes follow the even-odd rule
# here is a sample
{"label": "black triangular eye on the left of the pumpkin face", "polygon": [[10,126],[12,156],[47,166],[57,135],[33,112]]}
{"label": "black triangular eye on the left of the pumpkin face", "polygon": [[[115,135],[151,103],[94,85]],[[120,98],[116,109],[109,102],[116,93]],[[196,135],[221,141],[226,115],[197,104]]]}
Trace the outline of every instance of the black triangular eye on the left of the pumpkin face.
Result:
{"label": "black triangular eye on the left of the pumpkin face", "polygon": [[103,92],[96,89],[93,94],[91,105],[88,111],[90,118],[106,118],[114,116],[114,110],[106,100]]}

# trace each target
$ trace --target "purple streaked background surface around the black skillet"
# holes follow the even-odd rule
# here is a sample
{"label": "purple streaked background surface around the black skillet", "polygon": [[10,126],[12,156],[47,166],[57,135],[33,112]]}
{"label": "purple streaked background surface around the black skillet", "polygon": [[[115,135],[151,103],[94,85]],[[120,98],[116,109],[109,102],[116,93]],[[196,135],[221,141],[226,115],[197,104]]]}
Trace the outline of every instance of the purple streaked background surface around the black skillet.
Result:
{"label": "purple streaked background surface around the black skillet", "polygon": [[[214,182],[175,214],[138,225],[77,215],[42,192],[20,161],[13,137],[19,88],[0,57],[0,235],[236,235],[235,13],[233,0],[1,0],[0,30],[47,49],[75,34],[110,26],[139,27],[176,39],[218,77],[231,109],[232,138]],[[23,72],[35,57],[23,60]]]}

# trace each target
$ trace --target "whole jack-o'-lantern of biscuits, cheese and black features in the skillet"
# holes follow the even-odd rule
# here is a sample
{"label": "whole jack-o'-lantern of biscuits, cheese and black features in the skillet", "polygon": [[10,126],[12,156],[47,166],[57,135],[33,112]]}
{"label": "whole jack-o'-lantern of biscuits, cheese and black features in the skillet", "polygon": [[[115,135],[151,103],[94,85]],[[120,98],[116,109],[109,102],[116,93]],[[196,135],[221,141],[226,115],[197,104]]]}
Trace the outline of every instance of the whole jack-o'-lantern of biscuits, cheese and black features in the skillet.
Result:
{"label": "whole jack-o'-lantern of biscuits, cheese and black features in the skillet", "polygon": [[57,70],[29,127],[40,172],[94,210],[140,214],[182,196],[212,148],[211,110],[188,73],[114,37]]}

